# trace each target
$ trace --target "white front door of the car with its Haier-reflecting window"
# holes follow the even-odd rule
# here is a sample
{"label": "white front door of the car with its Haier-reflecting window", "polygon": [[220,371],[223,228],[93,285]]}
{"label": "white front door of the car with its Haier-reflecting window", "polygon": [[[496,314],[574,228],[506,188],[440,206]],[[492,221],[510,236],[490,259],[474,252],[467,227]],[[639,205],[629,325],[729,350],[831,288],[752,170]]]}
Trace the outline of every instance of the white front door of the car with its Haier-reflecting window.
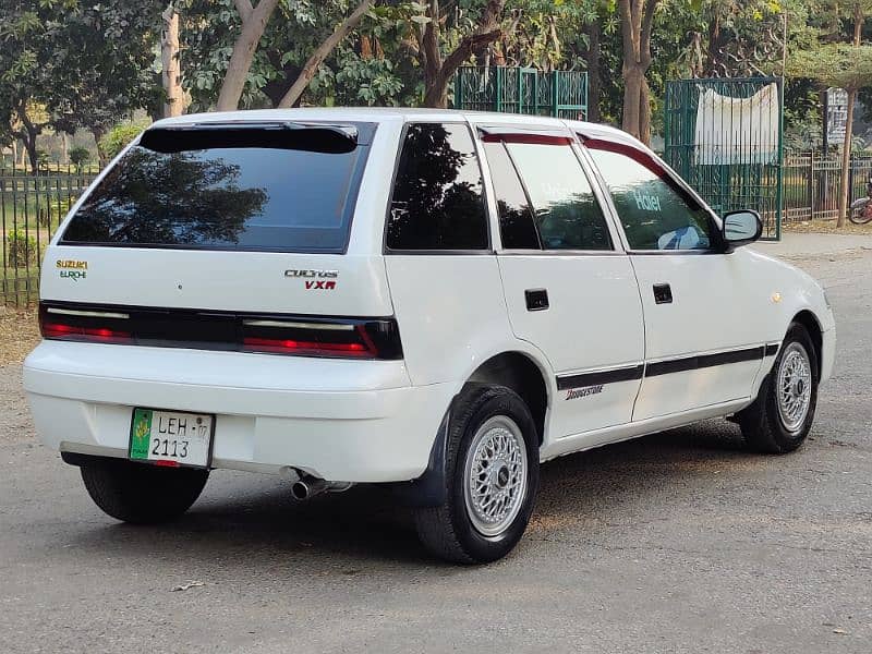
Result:
{"label": "white front door of the car with its Haier-reflecting window", "polygon": [[764,280],[725,252],[711,210],[650,152],[607,138],[584,147],[610,192],[644,307],[633,420],[748,398],[765,330],[746,307]]}

